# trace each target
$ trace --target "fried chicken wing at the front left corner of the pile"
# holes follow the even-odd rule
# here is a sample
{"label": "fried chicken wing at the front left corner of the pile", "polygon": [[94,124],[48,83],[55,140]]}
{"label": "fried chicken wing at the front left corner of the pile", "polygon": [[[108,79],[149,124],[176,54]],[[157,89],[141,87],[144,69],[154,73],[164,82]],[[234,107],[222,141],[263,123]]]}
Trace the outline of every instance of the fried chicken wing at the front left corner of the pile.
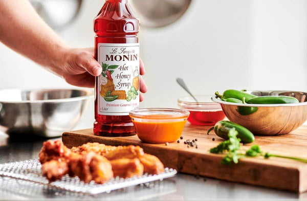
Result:
{"label": "fried chicken wing at the front left corner of the pile", "polygon": [[65,161],[51,160],[41,166],[42,175],[46,176],[50,182],[60,180],[69,171]]}

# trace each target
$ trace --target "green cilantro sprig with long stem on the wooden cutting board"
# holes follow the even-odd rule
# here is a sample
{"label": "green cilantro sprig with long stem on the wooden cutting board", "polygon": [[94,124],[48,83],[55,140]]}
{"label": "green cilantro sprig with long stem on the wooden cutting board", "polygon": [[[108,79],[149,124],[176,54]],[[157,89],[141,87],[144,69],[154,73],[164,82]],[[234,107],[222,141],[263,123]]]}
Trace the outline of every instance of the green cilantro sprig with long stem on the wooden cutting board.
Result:
{"label": "green cilantro sprig with long stem on the wooden cutting board", "polygon": [[259,145],[253,145],[250,147],[250,149],[244,152],[244,150],[240,149],[241,140],[237,138],[237,135],[238,135],[238,132],[235,130],[235,128],[232,128],[228,133],[229,140],[221,142],[216,147],[213,147],[210,149],[210,153],[226,154],[223,157],[221,164],[223,165],[231,165],[233,163],[236,164],[239,162],[239,159],[242,159],[245,157],[264,157],[265,159],[276,157],[276,158],[291,159],[291,160],[307,163],[307,159],[303,159],[303,158],[289,157],[287,155],[278,155],[278,154],[272,154],[269,152],[265,153],[264,151],[260,149]]}

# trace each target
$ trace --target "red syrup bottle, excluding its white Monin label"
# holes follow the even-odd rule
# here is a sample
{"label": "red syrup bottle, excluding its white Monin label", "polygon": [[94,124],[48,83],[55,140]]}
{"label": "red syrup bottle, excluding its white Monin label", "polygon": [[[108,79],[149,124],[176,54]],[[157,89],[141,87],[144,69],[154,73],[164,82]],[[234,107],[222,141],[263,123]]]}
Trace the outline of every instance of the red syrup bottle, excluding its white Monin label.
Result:
{"label": "red syrup bottle, excluding its white Monin label", "polygon": [[[128,5],[127,0],[106,0],[94,20],[95,58],[98,60],[99,43],[138,43],[139,20]],[[120,49],[120,48],[119,48]],[[113,70],[112,70],[113,71]],[[111,72],[112,72],[111,71]],[[115,74],[112,75],[113,78]],[[98,113],[99,77],[95,85],[94,133],[98,136],[132,136],[135,127],[129,115],[101,115]],[[102,98],[102,97],[99,97]],[[112,103],[112,102],[110,102]]]}

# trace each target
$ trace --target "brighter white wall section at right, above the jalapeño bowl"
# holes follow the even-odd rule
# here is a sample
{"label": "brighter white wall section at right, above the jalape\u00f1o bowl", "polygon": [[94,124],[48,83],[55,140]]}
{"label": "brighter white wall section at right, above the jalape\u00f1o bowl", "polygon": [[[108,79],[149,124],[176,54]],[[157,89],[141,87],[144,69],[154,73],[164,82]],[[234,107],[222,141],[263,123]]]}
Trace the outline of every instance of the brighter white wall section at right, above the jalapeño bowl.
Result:
{"label": "brighter white wall section at right, above the jalape\u00f1o bowl", "polygon": [[252,88],[307,91],[307,1],[252,4]]}

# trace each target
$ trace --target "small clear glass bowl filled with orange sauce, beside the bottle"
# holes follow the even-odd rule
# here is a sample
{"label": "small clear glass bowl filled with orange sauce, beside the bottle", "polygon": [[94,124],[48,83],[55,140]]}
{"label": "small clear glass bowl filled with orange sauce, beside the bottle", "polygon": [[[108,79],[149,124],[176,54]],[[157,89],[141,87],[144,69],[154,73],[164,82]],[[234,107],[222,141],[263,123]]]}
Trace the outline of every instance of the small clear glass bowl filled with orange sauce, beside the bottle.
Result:
{"label": "small clear glass bowl filled with orange sauce, beside the bottle", "polygon": [[183,109],[143,108],[130,111],[129,116],[141,141],[166,143],[180,138],[189,114]]}

